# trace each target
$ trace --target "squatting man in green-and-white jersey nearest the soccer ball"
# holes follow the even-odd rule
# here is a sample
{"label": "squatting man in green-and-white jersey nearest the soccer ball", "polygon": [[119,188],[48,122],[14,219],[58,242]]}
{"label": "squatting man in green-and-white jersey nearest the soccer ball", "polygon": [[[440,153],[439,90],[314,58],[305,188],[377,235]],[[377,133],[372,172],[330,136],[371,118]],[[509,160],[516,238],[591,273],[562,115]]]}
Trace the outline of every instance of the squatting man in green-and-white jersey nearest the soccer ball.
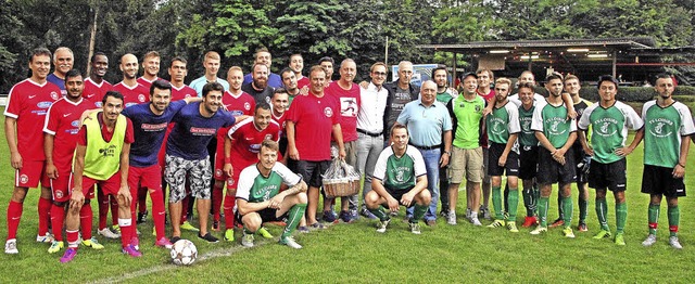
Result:
{"label": "squatting man in green-and-white jersey nearest the soccer ball", "polygon": [[[302,248],[292,232],[306,210],[306,183],[302,177],[289,170],[278,159],[278,143],[264,140],[258,152],[258,163],[247,167],[237,183],[237,220],[243,223],[241,244],[253,246],[253,234],[264,222],[287,218],[280,244]],[[285,183],[288,190],[280,192]]]}

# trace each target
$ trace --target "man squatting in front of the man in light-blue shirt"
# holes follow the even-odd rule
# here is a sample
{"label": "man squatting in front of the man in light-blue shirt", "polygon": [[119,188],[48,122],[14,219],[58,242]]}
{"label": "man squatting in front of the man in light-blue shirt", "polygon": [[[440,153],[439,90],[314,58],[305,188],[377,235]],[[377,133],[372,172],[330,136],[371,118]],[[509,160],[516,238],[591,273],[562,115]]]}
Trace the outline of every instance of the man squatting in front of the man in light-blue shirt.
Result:
{"label": "man squatting in front of the man in light-blue shirt", "polygon": [[419,220],[432,199],[427,191],[425,160],[417,149],[408,145],[408,129],[405,126],[393,126],[393,144],[379,155],[371,180],[371,191],[365,196],[367,208],[380,220],[377,227],[379,233],[386,232],[391,221],[381,205],[387,205],[392,212],[399,211],[401,205],[415,206],[415,214],[408,224],[410,232],[419,234]]}

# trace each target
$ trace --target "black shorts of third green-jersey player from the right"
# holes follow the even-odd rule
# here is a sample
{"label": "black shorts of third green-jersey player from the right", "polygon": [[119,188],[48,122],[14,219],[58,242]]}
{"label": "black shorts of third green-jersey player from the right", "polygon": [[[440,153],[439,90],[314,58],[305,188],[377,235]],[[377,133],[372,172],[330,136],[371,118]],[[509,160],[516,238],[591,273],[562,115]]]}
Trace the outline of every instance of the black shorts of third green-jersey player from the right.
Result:
{"label": "black shorts of third green-jersey player from the right", "polygon": [[567,184],[574,181],[577,177],[574,165],[574,153],[572,147],[565,153],[565,165],[560,165],[547,149],[539,149],[539,172],[535,176],[539,184],[560,183]]}

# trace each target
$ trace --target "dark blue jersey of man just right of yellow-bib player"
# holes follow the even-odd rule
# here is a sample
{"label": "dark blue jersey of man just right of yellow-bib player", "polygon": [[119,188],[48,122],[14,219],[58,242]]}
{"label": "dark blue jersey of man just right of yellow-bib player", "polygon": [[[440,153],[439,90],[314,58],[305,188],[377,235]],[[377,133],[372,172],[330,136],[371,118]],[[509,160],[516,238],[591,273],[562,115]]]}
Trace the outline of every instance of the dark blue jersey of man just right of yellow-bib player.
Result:
{"label": "dark blue jersey of man just right of yellow-bib player", "polygon": [[186,101],[172,102],[162,115],[150,109],[150,103],[136,104],[122,114],[132,121],[135,143],[130,145],[130,166],[144,168],[157,164],[157,153],[164,141],[168,124],[186,105]]}

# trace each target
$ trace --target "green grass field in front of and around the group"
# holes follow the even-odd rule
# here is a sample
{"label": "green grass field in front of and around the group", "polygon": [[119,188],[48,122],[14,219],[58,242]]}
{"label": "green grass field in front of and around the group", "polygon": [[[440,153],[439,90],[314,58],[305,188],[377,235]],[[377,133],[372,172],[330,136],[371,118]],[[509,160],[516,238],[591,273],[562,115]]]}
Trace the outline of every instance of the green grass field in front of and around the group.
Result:
{"label": "green grass field in front of and around the group", "polygon": [[[0,111],[3,111],[0,108]],[[0,119],[4,121],[4,117]],[[0,135],[4,144],[4,131]],[[630,140],[629,140],[630,141]],[[9,151],[0,146],[0,212],[7,212],[12,192],[13,170]],[[139,227],[143,232],[140,247],[144,256],[131,259],[119,253],[118,241],[101,240],[106,246],[97,251],[80,248],[67,264],[59,262],[62,251],[47,253],[47,244],[34,242],[38,191],[31,190],[25,201],[20,224],[20,255],[0,254],[0,283],[686,283],[695,279],[692,269],[695,251],[695,208],[692,197],[681,199],[682,250],[668,245],[666,205],[662,204],[658,243],[642,247],[647,233],[648,196],[640,193],[642,147],[628,162],[627,246],[591,236],[598,224],[594,211],[593,191],[586,233],[577,238],[561,236],[559,229],[532,236],[529,229],[511,234],[503,229],[475,228],[459,217],[459,224],[447,225],[443,219],[434,228],[424,227],[421,235],[413,235],[401,217],[394,219],[386,234],[375,232],[372,221],[337,224],[328,230],[300,234],[304,249],[294,250],[275,244],[276,240],[256,238],[257,246],[242,248],[237,243],[205,244],[193,233],[192,240],[201,258],[191,267],[170,264],[168,250],[152,245],[152,221]],[[687,163],[686,184],[691,191],[695,176],[694,158]],[[576,191],[573,191],[576,193]],[[557,217],[556,191],[551,198],[549,220]],[[573,197],[574,204],[577,197]],[[459,205],[465,204],[464,195]],[[612,196],[608,197],[609,224],[615,230]],[[523,216],[522,204],[519,215]],[[94,207],[94,211],[97,208]],[[403,210],[402,210],[403,211]],[[465,208],[457,209],[463,214]],[[574,209],[574,225],[578,209]],[[0,220],[0,236],[7,236],[7,220]],[[96,223],[96,220],[94,220]],[[489,222],[483,221],[483,224]],[[96,225],[94,225],[96,228]],[[276,236],[280,228],[270,227]],[[219,233],[217,236],[222,236]],[[240,238],[240,233],[237,234]]]}

